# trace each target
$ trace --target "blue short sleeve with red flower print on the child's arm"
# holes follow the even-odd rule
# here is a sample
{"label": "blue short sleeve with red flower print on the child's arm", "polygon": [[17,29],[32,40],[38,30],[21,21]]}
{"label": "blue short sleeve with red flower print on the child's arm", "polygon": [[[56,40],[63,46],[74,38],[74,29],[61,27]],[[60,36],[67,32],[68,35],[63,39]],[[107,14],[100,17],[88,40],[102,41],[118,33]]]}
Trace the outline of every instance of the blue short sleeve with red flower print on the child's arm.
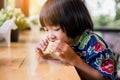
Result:
{"label": "blue short sleeve with red flower print on the child's arm", "polygon": [[116,62],[106,43],[97,35],[92,35],[86,45],[86,62],[97,69],[103,77],[114,80]]}

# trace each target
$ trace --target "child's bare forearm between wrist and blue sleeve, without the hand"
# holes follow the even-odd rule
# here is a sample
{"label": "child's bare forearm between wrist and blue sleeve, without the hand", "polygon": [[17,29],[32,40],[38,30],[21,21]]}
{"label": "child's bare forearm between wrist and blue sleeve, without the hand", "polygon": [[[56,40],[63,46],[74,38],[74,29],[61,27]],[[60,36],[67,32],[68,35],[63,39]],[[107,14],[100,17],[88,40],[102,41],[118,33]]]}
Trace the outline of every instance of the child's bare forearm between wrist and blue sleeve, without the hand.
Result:
{"label": "child's bare forearm between wrist and blue sleeve, without the hand", "polygon": [[98,70],[92,68],[87,63],[85,63],[79,56],[76,56],[72,64],[77,67],[78,71],[87,79],[87,80],[108,80],[100,75]]}

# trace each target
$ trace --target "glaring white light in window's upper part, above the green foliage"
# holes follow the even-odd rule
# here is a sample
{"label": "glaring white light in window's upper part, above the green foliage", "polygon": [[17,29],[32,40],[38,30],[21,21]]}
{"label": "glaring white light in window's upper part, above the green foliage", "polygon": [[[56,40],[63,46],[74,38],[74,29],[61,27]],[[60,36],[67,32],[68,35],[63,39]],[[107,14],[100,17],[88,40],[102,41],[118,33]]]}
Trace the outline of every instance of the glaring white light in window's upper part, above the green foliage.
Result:
{"label": "glaring white light in window's upper part, above the green foliage", "polygon": [[110,15],[115,16],[115,1],[114,0],[86,0],[86,5],[94,16]]}

